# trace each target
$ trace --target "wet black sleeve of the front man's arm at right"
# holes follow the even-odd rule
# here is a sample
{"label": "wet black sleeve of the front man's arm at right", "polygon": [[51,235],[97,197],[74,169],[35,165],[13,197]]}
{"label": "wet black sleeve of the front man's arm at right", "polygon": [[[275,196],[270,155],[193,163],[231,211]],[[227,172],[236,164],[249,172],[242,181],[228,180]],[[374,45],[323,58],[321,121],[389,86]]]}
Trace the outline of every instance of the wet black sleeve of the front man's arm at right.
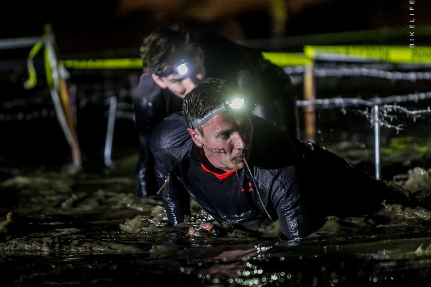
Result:
{"label": "wet black sleeve of the front man's arm at right", "polygon": [[283,234],[291,240],[304,238],[323,224],[316,202],[293,165],[275,175],[271,201],[277,211]]}

